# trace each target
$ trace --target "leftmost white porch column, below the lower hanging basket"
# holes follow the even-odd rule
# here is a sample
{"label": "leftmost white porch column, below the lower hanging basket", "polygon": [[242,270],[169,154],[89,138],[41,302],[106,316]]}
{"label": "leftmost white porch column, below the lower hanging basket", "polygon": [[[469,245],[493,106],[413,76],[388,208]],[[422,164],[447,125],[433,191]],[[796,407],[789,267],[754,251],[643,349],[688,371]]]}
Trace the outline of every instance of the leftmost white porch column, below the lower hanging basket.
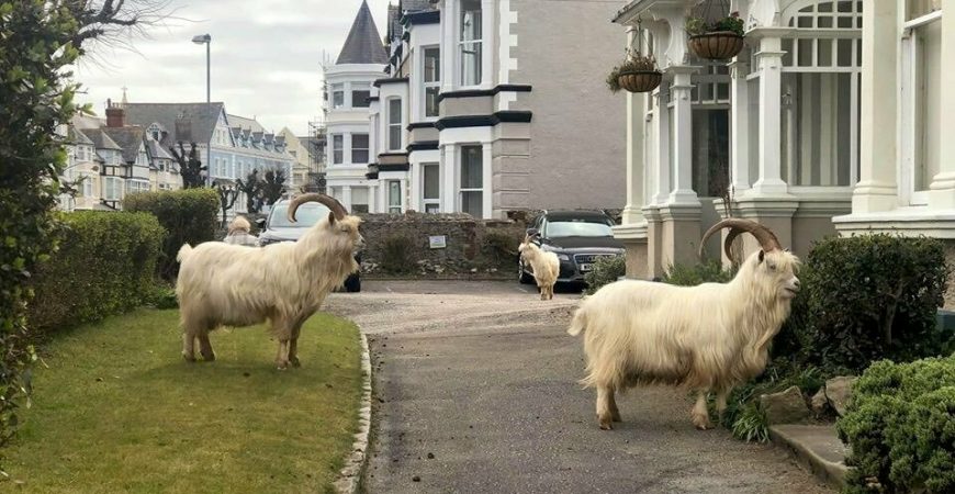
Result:
{"label": "leftmost white porch column, below the lower hanging basket", "polygon": [[[632,46],[637,30],[627,29],[627,37]],[[623,206],[622,222],[643,223],[643,122],[648,98],[643,93],[627,92],[627,204]]]}

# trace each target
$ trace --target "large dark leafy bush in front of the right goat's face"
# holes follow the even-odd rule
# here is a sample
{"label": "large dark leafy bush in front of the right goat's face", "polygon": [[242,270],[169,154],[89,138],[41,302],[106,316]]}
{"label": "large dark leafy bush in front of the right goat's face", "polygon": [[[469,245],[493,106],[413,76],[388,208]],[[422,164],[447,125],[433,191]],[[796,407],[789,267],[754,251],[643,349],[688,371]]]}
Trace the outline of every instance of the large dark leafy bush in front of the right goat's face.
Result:
{"label": "large dark leafy bush in front of the right goat's face", "polygon": [[935,313],[948,273],[941,240],[824,239],[800,270],[804,290],[775,353],[799,348],[806,363],[840,371],[936,356],[943,341]]}

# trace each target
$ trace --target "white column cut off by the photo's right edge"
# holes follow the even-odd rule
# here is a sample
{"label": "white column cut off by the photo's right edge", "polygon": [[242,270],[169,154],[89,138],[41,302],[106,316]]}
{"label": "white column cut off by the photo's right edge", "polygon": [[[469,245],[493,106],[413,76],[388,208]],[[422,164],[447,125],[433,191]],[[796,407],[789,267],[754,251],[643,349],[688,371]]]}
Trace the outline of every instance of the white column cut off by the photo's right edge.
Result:
{"label": "white column cut off by the photo's right edge", "polygon": [[[942,15],[942,116],[941,128],[955,128],[955,5],[945,3]],[[929,187],[929,207],[933,210],[955,209],[955,139],[942,138],[942,149],[939,153],[940,170]]]}

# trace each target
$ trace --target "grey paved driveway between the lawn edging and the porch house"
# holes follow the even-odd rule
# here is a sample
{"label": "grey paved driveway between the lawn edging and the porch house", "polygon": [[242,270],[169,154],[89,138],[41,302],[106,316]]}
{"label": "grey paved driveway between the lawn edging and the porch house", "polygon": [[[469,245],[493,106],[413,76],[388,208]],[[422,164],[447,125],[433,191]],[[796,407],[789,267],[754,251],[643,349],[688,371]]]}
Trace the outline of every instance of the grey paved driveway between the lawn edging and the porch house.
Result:
{"label": "grey paved driveway between the lawn edging and the porch house", "polygon": [[597,428],[581,390],[580,294],[516,282],[363,282],[327,310],[369,334],[371,493],[828,493],[779,449],[697,431],[686,393],[637,389]]}

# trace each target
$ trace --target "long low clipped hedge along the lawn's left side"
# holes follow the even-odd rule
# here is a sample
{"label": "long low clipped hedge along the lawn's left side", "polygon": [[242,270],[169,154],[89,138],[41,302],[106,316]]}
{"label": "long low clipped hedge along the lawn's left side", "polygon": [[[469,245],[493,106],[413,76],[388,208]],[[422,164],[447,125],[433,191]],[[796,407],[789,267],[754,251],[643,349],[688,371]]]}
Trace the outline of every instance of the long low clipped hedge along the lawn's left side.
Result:
{"label": "long low clipped hedge along the lawn's left side", "polygon": [[145,213],[65,213],[57,252],[32,281],[34,335],[133,308],[155,291],[165,231]]}

